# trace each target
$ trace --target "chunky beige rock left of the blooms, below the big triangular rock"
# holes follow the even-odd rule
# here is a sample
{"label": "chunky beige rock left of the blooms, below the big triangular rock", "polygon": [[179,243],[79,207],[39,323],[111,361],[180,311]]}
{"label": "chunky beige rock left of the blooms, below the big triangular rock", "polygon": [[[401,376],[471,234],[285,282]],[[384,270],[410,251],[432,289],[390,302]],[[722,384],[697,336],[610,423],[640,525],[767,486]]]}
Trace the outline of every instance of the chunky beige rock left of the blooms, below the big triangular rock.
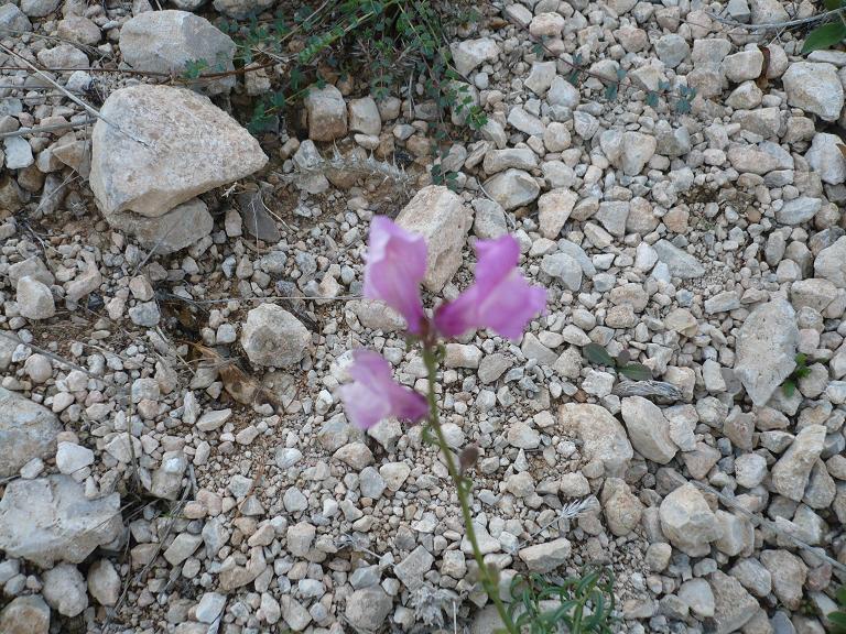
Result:
{"label": "chunky beige rock left of the blooms, below the big triangular rock", "polygon": [[241,347],[256,365],[289,368],[305,356],[312,335],[291,313],[262,304],[247,314]]}

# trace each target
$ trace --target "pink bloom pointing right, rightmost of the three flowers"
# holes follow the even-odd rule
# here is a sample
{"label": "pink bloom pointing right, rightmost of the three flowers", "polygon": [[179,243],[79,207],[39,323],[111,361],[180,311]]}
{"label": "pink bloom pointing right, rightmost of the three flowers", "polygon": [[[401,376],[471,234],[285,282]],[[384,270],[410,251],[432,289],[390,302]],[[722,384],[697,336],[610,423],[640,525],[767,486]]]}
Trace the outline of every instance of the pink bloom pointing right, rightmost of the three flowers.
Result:
{"label": "pink bloom pointing right, rightmost of the three flowers", "polygon": [[435,313],[435,327],[446,337],[489,328],[517,339],[527,324],[546,310],[546,291],[530,286],[517,269],[520,247],[511,236],[476,242],[476,283]]}

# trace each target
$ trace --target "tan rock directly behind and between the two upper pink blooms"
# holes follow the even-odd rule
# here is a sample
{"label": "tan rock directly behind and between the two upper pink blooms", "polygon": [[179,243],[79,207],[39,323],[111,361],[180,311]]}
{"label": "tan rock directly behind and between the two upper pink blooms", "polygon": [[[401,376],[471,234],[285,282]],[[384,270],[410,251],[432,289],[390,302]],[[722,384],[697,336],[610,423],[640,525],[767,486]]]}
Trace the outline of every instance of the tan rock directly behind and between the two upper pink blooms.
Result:
{"label": "tan rock directly behind and between the two upper pink blooms", "polygon": [[397,223],[426,239],[429,262],[423,284],[437,293],[462,265],[462,249],[473,223],[473,211],[447,187],[430,185],[405,205]]}

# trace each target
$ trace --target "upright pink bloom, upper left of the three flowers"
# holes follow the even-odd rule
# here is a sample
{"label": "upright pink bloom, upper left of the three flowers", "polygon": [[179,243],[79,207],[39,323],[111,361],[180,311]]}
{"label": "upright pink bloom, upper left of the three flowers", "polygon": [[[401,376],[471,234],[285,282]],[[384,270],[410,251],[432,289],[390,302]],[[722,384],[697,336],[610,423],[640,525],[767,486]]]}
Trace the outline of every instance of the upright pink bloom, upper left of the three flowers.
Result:
{"label": "upright pink bloom, upper left of the three flowers", "polygon": [[381,299],[398,310],[419,334],[425,317],[420,283],[426,275],[426,242],[400,228],[390,218],[377,216],[370,223],[365,267],[365,297]]}

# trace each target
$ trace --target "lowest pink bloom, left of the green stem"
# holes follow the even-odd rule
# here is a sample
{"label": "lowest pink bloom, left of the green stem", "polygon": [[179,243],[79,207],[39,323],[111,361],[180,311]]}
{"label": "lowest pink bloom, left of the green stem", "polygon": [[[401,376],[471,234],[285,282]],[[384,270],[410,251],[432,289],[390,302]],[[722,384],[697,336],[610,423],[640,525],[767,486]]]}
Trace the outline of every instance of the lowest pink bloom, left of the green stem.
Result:
{"label": "lowest pink bloom, left of the green stem", "polygon": [[378,352],[355,350],[349,374],[352,382],[340,386],[340,398],[356,427],[368,429],[390,417],[416,423],[429,414],[423,395],[397,383],[391,364]]}

